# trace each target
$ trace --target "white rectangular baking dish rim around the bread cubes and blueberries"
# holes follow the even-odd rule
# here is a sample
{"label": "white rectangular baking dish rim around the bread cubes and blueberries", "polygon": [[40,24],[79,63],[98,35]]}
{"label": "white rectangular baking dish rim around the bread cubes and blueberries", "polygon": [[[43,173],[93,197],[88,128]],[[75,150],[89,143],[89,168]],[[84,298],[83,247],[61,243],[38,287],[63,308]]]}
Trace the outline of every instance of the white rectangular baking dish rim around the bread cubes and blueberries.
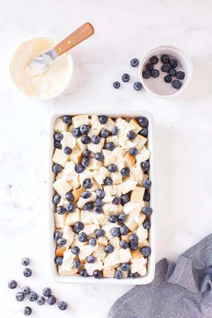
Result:
{"label": "white rectangular baking dish rim around the bread cubes and blueberries", "polygon": [[[72,107],[74,109],[74,107]],[[147,263],[147,274],[145,276],[131,279],[131,278],[123,278],[120,280],[117,280],[115,278],[102,278],[100,280],[90,277],[80,277],[80,276],[59,276],[57,266],[54,263],[55,258],[55,249],[56,249],[56,240],[53,237],[53,233],[55,231],[55,224],[54,224],[54,211],[55,211],[55,205],[52,203],[52,197],[55,193],[55,191],[52,188],[52,183],[55,181],[55,175],[52,171],[52,155],[54,152],[54,122],[56,118],[61,117],[63,115],[79,115],[82,114],[80,112],[75,111],[60,111],[58,113],[54,113],[51,115],[50,118],[50,127],[49,127],[49,151],[48,151],[48,169],[49,169],[49,178],[48,178],[48,228],[49,228],[49,258],[50,258],[50,272],[51,276],[54,281],[58,283],[84,283],[84,284],[129,284],[129,285],[135,285],[135,284],[148,284],[150,283],[154,278],[154,271],[155,271],[155,208],[154,208],[154,149],[153,149],[153,117],[150,113],[144,112],[144,111],[135,111],[135,110],[129,110],[129,111],[115,111],[115,110],[108,110],[104,112],[104,115],[110,116],[112,118],[118,118],[118,117],[130,117],[130,118],[136,118],[140,116],[145,116],[149,121],[148,126],[148,143],[147,148],[151,152],[151,156],[149,159],[150,162],[150,170],[149,170],[149,179],[152,181],[152,185],[150,187],[150,206],[153,209],[153,213],[150,216],[151,220],[151,228],[149,230],[149,242],[150,242],[150,248],[151,248],[151,255],[149,256],[148,263]],[[100,115],[97,112],[90,111],[88,113],[89,115]]]}

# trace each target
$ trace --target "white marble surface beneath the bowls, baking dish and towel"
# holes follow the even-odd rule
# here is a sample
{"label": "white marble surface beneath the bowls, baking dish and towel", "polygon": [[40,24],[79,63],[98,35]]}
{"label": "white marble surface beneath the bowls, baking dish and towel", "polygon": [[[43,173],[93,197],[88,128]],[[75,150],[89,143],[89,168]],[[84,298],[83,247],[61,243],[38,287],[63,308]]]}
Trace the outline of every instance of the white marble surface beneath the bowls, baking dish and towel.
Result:
{"label": "white marble surface beneath the bowls, baking dish and towel", "polygon": [[[27,99],[10,81],[8,64],[16,46],[37,35],[64,38],[85,21],[95,35],[72,49],[74,77],[57,99]],[[0,4],[1,58],[1,262],[0,299],[5,318],[23,317],[7,281],[29,284],[38,294],[52,287],[70,305],[64,317],[106,317],[113,302],[130,286],[60,285],[48,271],[46,233],[47,128],[49,115],[104,109],[142,109],[155,121],[157,260],[178,255],[211,231],[212,43],[211,3],[192,0],[7,0]],[[135,92],[138,68],[129,65],[151,47],[182,47],[194,74],[188,89],[174,99]],[[114,90],[112,83],[129,73],[131,80]],[[20,260],[32,259],[25,278]],[[58,317],[58,308],[32,303],[33,317]]]}

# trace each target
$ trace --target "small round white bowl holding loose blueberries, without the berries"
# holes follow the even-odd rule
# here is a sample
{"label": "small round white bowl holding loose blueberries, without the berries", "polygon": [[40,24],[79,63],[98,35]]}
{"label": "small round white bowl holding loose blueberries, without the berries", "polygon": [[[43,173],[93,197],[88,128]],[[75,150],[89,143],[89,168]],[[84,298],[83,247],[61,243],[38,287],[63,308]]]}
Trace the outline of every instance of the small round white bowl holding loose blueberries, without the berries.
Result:
{"label": "small round white bowl holding loose blueberries, without the berries", "polygon": [[[180,89],[174,89],[171,83],[166,83],[164,81],[164,77],[168,74],[166,72],[161,71],[161,66],[163,63],[161,62],[161,56],[167,54],[170,59],[176,59],[178,62],[178,66],[176,71],[183,71],[185,73],[185,78],[180,80],[182,82],[182,86]],[[154,65],[155,69],[160,71],[160,75],[157,78],[150,77],[149,79],[144,79],[142,76],[142,72],[146,70],[146,65],[150,63],[150,58],[156,55],[159,58],[159,62]],[[191,60],[188,57],[188,54],[183,51],[180,47],[174,45],[162,45],[155,47],[149,50],[141,59],[139,65],[139,76],[141,84],[143,85],[144,89],[158,97],[172,97],[176,96],[179,93],[183,92],[192,78],[192,64]],[[176,79],[173,77],[173,80]]]}

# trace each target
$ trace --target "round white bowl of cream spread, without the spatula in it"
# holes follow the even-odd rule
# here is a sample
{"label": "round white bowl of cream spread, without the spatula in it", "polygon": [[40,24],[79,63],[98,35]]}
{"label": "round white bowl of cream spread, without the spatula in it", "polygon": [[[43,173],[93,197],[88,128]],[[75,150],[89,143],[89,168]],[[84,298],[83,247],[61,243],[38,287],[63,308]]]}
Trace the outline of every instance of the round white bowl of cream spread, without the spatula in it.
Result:
{"label": "round white bowl of cream spread, without the spatula in it", "polygon": [[19,91],[27,97],[49,100],[57,97],[69,86],[73,76],[73,60],[69,52],[56,58],[48,69],[32,76],[27,65],[42,52],[51,50],[58,41],[35,37],[22,42],[10,61],[10,76]]}

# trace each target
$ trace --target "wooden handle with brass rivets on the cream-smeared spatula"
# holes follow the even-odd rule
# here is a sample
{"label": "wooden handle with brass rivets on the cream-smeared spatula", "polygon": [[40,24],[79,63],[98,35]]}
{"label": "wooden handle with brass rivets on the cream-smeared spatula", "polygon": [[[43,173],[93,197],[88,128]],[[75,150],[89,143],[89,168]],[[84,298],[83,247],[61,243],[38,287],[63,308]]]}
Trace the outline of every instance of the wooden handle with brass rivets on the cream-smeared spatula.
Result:
{"label": "wooden handle with brass rivets on the cream-smeared spatula", "polygon": [[86,38],[89,38],[93,33],[93,26],[89,22],[86,22],[81,25],[76,31],[70,34],[67,38],[61,41],[58,45],[56,45],[54,49],[58,53],[58,55],[61,55],[70,50],[75,45],[84,41]]}

